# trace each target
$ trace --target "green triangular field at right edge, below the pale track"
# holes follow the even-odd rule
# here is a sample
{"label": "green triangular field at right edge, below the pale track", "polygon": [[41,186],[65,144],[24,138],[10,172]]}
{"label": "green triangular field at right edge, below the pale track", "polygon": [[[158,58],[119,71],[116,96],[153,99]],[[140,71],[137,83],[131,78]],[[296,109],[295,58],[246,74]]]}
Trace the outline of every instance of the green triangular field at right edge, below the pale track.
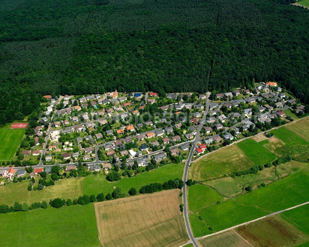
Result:
{"label": "green triangular field at right edge, below the pale track", "polygon": [[298,230],[309,236],[309,204],[285,211],[280,216]]}

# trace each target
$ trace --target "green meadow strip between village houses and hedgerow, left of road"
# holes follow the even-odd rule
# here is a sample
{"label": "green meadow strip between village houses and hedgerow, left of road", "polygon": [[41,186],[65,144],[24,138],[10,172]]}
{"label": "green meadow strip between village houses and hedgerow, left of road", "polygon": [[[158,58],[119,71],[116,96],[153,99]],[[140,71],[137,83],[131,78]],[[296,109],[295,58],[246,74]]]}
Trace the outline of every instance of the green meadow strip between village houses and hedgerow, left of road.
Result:
{"label": "green meadow strip between village houses and hedgerow, left of road", "polygon": [[184,170],[184,164],[168,164],[162,167],[159,167],[155,170],[149,172],[143,172],[135,177],[123,178],[119,181],[108,182],[105,175],[99,176],[88,176],[83,180],[83,194],[107,194],[112,192],[115,187],[121,187],[122,193],[128,193],[129,189],[132,187],[136,188],[139,192],[139,189],[150,183],[164,183],[170,179],[174,180],[176,178],[182,177]]}

